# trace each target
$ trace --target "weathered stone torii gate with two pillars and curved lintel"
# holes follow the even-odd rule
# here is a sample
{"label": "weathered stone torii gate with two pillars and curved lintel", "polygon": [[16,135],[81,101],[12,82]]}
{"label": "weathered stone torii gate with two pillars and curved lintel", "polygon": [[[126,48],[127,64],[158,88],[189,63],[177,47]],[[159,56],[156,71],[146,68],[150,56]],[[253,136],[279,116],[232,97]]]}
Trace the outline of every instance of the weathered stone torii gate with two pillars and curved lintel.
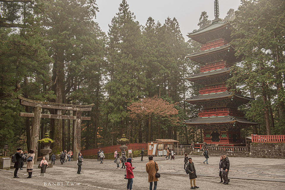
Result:
{"label": "weathered stone torii gate with two pillars and curved lintel", "polygon": [[[31,144],[35,151],[34,163],[37,163],[38,157],[38,143],[39,140],[39,129],[41,118],[50,118],[50,119],[73,119],[76,120],[76,124],[73,128],[73,154],[77,157],[78,153],[81,150],[81,120],[91,120],[91,117],[82,117],[82,111],[91,111],[92,107],[95,104],[90,105],[73,105],[73,104],[64,104],[64,103],[53,103],[53,102],[43,102],[37,100],[30,100],[24,97],[19,97],[20,104],[23,106],[34,107],[33,113],[23,113],[20,112],[20,116],[23,117],[33,117],[32,129],[31,129]],[[57,114],[42,114],[41,109],[55,109]],[[75,116],[61,115],[61,110],[72,110],[75,111]]]}

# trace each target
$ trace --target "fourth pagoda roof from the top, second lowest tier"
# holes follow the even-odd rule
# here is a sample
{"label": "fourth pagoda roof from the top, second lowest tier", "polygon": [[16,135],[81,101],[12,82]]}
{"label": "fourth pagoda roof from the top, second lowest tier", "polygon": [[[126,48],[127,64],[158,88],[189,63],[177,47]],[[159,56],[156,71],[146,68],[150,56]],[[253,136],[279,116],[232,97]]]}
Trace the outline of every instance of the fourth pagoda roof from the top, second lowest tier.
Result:
{"label": "fourth pagoda roof from the top, second lowest tier", "polygon": [[250,98],[247,96],[243,96],[240,94],[236,94],[233,92],[216,92],[210,94],[200,94],[191,98],[186,98],[186,102],[196,104],[197,102],[206,102],[206,101],[215,101],[215,100],[222,100],[222,99],[235,99],[240,100],[243,103],[248,103],[251,100],[255,100],[254,98]]}

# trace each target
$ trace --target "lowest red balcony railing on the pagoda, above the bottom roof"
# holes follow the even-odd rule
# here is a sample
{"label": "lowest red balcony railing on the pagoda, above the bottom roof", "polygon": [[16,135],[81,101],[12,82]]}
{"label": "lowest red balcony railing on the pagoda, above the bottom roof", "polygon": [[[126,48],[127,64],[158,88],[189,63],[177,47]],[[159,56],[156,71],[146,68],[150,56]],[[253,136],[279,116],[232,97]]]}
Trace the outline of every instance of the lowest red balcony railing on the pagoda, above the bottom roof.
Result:
{"label": "lowest red balcony railing on the pagoda, above the bottom roof", "polygon": [[237,116],[243,117],[244,114],[242,111],[238,111],[232,108],[220,108],[220,109],[210,109],[210,110],[201,110],[198,113],[199,117],[211,117],[211,116]]}

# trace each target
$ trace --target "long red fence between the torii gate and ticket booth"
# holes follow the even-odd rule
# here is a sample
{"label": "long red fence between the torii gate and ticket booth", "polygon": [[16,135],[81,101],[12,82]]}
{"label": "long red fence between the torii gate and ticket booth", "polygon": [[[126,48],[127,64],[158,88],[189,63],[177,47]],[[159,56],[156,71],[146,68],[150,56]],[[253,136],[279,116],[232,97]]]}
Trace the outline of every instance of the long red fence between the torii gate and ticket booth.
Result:
{"label": "long red fence between the torii gate and ticket booth", "polygon": [[[132,150],[141,150],[142,148],[144,149],[148,148],[148,143],[127,143],[126,145],[128,149],[132,149]],[[117,144],[113,146],[104,146],[104,147],[99,147],[95,149],[86,149],[86,150],[81,150],[80,153],[83,156],[97,155],[97,152],[99,151],[99,149],[104,151],[104,153],[110,153],[110,152],[115,152],[115,150],[120,151],[119,149],[120,146],[121,146],[120,144]]]}

